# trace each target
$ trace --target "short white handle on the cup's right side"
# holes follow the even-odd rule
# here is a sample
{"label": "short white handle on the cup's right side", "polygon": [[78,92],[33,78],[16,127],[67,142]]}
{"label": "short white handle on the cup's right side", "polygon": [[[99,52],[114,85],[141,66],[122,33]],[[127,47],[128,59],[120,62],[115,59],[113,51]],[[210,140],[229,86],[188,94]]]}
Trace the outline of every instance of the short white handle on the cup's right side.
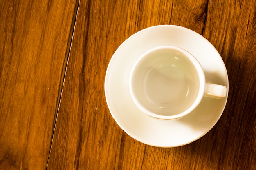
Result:
{"label": "short white handle on the cup's right side", "polygon": [[222,99],[227,95],[227,87],[218,85],[218,84],[210,84],[206,83],[204,88],[204,96],[211,97],[216,99]]}

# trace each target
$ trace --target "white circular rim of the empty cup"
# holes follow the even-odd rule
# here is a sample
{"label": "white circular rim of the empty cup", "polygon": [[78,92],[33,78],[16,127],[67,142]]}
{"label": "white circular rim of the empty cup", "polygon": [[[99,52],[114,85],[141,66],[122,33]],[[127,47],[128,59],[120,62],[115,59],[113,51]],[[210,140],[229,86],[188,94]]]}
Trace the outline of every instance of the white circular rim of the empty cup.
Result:
{"label": "white circular rim of the empty cup", "polygon": [[[139,62],[141,62],[141,60],[146,55],[148,55],[149,53],[152,53],[152,52],[157,51],[157,50],[162,50],[162,49],[175,49],[175,50],[178,50],[181,53],[183,53],[193,63],[193,65],[195,66],[195,69],[198,73],[198,77],[199,77],[199,91],[198,91],[197,97],[195,98],[193,104],[188,109],[186,109],[185,111],[183,111],[179,114],[176,114],[176,115],[158,115],[157,113],[153,113],[150,110],[146,109],[144,106],[142,106],[142,104],[140,104],[141,102],[139,101],[139,99],[137,99],[136,95],[134,94],[134,89],[133,89],[133,86],[132,86],[134,72],[135,72],[135,69],[136,69],[137,65],[139,64]],[[191,53],[186,51],[185,49],[182,49],[178,46],[169,46],[169,45],[168,46],[158,46],[158,47],[155,47],[153,49],[150,49],[150,50],[146,51],[135,62],[135,64],[132,67],[132,70],[130,72],[129,88],[130,88],[130,94],[131,94],[132,99],[135,102],[136,106],[140,110],[142,110],[144,113],[146,113],[147,115],[150,115],[151,117],[155,117],[157,119],[178,119],[178,118],[184,117],[185,115],[188,115],[189,113],[191,113],[200,104],[200,102],[202,100],[202,97],[204,95],[205,75],[204,75],[204,71],[202,69],[202,66],[198,62],[198,60]]]}

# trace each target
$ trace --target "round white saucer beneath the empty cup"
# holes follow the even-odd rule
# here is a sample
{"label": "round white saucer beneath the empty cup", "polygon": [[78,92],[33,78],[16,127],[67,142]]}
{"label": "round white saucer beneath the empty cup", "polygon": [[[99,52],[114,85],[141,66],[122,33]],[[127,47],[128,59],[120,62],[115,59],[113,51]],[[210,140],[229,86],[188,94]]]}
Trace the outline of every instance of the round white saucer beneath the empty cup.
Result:
{"label": "round white saucer beneath the empty cup", "polygon": [[228,89],[225,64],[208,40],[184,27],[159,25],[135,33],[119,46],[108,65],[105,95],[113,118],[132,138],[151,146],[175,147],[189,144],[209,132],[222,115],[227,96],[224,99],[203,97],[192,113],[174,120],[155,119],[139,110],[129,91],[132,66],[146,51],[164,45],[189,51],[202,65],[207,83]]}

